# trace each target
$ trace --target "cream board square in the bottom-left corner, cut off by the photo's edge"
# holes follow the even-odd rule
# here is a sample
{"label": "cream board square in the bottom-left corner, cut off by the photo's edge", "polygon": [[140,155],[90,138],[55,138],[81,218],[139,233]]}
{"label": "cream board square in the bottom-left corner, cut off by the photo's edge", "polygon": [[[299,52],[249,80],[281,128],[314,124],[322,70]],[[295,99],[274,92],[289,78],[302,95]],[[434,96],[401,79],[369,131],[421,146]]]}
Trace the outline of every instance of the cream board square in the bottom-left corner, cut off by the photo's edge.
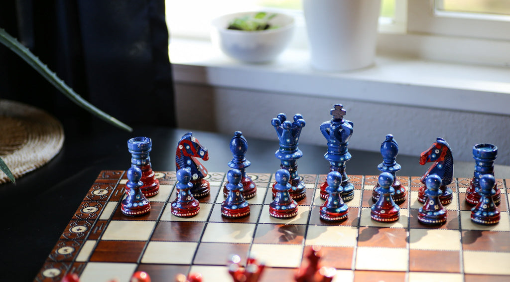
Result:
{"label": "cream board square in the bottom-left corner, cut off by the photo's edge", "polygon": [[137,264],[126,263],[88,263],[80,276],[80,282],[97,282],[105,279],[129,281]]}

